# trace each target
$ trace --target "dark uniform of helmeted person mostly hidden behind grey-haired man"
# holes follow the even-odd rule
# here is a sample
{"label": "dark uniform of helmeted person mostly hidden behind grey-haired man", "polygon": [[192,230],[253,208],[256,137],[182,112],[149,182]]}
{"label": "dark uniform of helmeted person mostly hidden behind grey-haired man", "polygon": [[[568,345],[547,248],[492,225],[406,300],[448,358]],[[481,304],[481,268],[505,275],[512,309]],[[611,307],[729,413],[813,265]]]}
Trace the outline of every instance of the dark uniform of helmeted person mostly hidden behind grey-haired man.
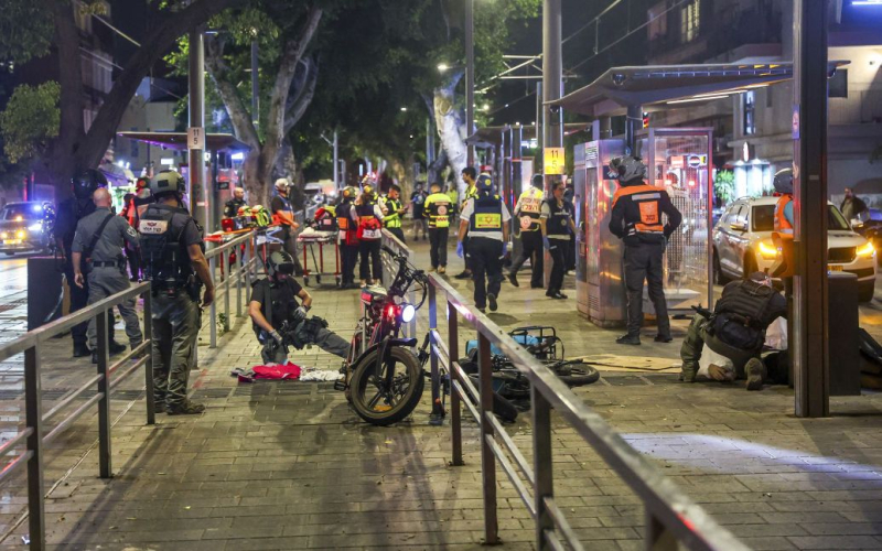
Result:
{"label": "dark uniform of helmeted person mostly hidden behind grey-haired man", "polygon": [[[71,313],[86,307],[89,301],[89,285],[88,279],[83,289],[74,283],[74,263],[73,263],[73,246],[74,236],[76,235],[77,223],[95,212],[95,203],[92,198],[77,199],[71,197],[58,204],[58,215],[55,222],[55,234],[61,236],[62,245],[64,247],[64,279],[67,281],[67,287],[71,290]],[[88,272],[85,259],[82,260],[80,271],[85,274]],[[110,341],[114,341],[114,312],[107,311],[107,325],[110,331]],[[71,337],[74,341],[74,348],[86,350],[86,331],[88,328],[88,321],[75,325],[71,329]]]}

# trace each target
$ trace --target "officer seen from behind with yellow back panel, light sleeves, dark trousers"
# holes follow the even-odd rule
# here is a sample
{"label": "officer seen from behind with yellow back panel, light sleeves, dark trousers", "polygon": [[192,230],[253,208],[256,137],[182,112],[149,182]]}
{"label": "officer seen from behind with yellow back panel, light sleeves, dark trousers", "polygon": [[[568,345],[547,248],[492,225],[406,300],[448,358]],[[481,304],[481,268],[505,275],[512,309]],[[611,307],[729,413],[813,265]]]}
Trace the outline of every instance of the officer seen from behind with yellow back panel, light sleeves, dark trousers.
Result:
{"label": "officer seen from behind with yellow back panel, light sleeves, dark trousers", "polygon": [[471,259],[472,281],[475,282],[475,306],[484,312],[490,304],[490,311],[495,312],[512,215],[502,198],[493,194],[493,181],[488,175],[480,175],[476,187],[477,197],[466,202],[462,209],[456,255],[462,257],[463,239],[467,235],[467,255]]}

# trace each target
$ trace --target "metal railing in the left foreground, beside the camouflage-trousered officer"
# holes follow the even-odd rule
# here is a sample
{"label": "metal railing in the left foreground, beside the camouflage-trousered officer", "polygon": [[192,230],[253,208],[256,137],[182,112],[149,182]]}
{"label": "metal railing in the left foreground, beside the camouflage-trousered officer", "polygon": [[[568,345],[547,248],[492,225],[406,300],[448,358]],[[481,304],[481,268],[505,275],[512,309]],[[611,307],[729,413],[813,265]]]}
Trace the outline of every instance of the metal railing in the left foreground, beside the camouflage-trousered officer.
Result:
{"label": "metal railing in the left foreground, beside the camouflage-trousered officer", "polygon": [[[126,356],[110,364],[109,334],[107,311],[127,300],[141,296],[143,299],[144,341],[129,352]],[[147,388],[147,424],[155,423],[155,408],[153,404],[153,359],[152,359],[152,326],[150,283],[140,283],[127,291],[108,296],[95,304],[78,310],[69,315],[56,320],[34,331],[10,341],[0,346],[0,361],[18,354],[24,354],[24,430],[12,436],[0,446],[0,456],[12,453],[17,446],[24,443],[24,453],[9,462],[0,471],[0,483],[8,479],[22,465],[28,466],[28,520],[30,530],[31,549],[42,550],[46,547],[46,517],[45,495],[43,486],[43,446],[51,443],[77,419],[89,411],[93,406],[98,407],[98,471],[101,478],[112,476],[111,437],[110,437],[110,392],[122,380],[144,367],[144,385]],[[52,337],[71,331],[75,325],[88,322],[95,317],[98,333],[98,372],[86,380],[75,391],[66,395],[54,408],[43,413],[43,398],[41,390],[42,365],[40,360],[40,346]],[[136,356],[142,355],[137,361],[127,366]],[[74,400],[83,395],[96,390],[84,403],[62,419],[54,429],[44,434],[43,424],[49,423]]]}

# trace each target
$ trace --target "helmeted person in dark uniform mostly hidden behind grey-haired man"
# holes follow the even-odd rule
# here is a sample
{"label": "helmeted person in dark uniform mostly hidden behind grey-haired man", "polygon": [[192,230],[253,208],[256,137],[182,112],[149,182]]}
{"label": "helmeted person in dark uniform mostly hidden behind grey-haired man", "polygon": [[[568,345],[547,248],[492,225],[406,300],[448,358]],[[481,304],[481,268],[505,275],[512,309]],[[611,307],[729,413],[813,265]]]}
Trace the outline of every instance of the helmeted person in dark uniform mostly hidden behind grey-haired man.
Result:
{"label": "helmeted person in dark uniform mostly hidden behind grey-haired man", "polygon": [[[71,180],[74,196],[58,204],[58,216],[55,223],[55,241],[58,250],[62,251],[64,262],[64,279],[71,290],[71,313],[86,306],[89,300],[88,280],[84,287],[75,283],[76,272],[73,262],[73,246],[76,235],[76,226],[80,219],[95,212],[95,203],[92,195],[99,187],[107,187],[107,179],[99,171],[87,170]],[[77,267],[80,272],[85,271],[83,266]],[[120,354],[126,350],[126,346],[114,341],[114,313],[107,311],[108,326],[110,327],[110,354]],[[92,355],[87,345],[88,322],[75,325],[71,329],[74,341],[74,357],[82,358]]]}

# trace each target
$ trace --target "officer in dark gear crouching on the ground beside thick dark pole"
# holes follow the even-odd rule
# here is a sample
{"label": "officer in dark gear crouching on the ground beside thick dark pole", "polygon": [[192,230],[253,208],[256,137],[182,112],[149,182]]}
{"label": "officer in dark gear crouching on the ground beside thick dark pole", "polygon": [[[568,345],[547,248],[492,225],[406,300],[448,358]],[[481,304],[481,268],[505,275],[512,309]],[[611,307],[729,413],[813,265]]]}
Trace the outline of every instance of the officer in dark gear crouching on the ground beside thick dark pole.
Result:
{"label": "officer in dark gear crouching on the ground beside thick dark pole", "polygon": [[731,369],[711,366],[710,376],[714,380],[746,379],[747,390],[762,390],[763,381],[786,383],[786,361],[770,361],[767,366],[761,359],[766,329],[772,322],[786,316],[787,301],[766,273],[754,272],[750,279],[727,284],[713,312],[699,309],[692,317],[680,348],[680,380],[695,382],[701,350],[707,344],[732,361]]}

